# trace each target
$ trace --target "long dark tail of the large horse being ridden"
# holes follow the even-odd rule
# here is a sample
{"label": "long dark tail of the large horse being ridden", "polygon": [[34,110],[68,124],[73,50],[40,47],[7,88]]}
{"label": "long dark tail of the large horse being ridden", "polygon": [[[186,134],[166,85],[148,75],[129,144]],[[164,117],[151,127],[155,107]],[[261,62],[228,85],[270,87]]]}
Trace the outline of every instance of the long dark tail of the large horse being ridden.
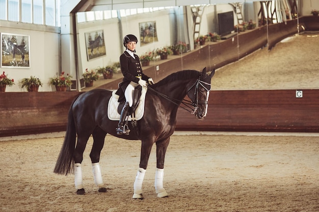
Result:
{"label": "long dark tail of the large horse being ridden", "polygon": [[74,101],[72,102],[71,107],[69,109],[68,124],[66,127],[65,138],[64,138],[62,148],[60,150],[56,167],[54,169],[54,173],[57,173],[57,174],[67,175],[69,173],[71,174],[74,173],[73,152],[74,152],[75,141],[76,141],[76,129],[75,129],[73,112],[72,112],[72,106],[74,104]]}

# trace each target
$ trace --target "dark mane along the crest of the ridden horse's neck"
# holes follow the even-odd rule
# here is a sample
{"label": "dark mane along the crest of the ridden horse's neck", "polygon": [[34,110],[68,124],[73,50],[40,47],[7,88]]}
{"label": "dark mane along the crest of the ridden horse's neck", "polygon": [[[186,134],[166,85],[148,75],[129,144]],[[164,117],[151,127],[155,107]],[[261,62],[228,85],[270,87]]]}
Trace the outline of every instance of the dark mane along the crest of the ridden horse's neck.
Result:
{"label": "dark mane along the crest of the ridden horse's neck", "polygon": [[198,78],[201,75],[199,71],[196,70],[183,70],[179,72],[172,73],[162,79],[161,81],[158,81],[156,84],[154,84],[154,88],[161,85],[166,85],[170,82],[173,82],[175,80],[183,80],[183,79],[193,79]]}

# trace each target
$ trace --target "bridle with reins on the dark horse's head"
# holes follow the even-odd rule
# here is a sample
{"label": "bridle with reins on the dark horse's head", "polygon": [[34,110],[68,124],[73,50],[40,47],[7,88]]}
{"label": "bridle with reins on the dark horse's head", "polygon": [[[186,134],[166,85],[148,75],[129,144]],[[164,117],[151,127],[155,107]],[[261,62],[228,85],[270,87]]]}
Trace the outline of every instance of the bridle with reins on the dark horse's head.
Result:
{"label": "bridle with reins on the dark horse's head", "polygon": [[[208,98],[206,99],[206,101],[198,101],[198,89],[199,89],[199,86],[202,86],[206,90],[206,92],[209,93],[210,83],[202,81],[200,79],[200,76],[199,76],[199,78],[196,80],[196,82],[187,90],[186,94],[188,94],[194,86],[195,86],[195,91],[194,91],[195,100],[194,101],[193,100],[189,101],[187,99],[183,99],[182,101],[180,101],[178,99],[174,99],[174,98],[169,97],[169,96],[167,96],[165,94],[162,94],[161,92],[158,92],[154,88],[151,88],[151,87],[147,87],[147,88],[152,90],[152,92],[158,94],[159,96],[161,96],[161,97],[167,99],[168,101],[174,103],[175,105],[181,107],[182,109],[194,114],[196,112],[196,110],[198,109],[198,105],[208,105]],[[209,88],[208,88],[208,86],[209,86]],[[207,97],[208,97],[208,94],[207,94]],[[182,107],[180,104],[183,104],[184,106],[188,107],[191,110]],[[193,108],[191,108],[190,105],[193,106]]]}

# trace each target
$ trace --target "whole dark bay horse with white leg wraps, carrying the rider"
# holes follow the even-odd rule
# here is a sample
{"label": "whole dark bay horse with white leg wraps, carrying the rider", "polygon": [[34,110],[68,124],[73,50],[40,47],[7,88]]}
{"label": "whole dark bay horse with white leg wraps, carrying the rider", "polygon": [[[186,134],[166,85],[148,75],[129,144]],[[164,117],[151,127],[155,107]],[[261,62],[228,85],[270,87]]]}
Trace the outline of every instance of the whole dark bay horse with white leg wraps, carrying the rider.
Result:
{"label": "whole dark bay horse with white leg wraps, carrying the rider", "polygon": [[[128,140],[142,140],[140,168],[134,183],[135,199],[143,199],[142,183],[147,168],[152,145],[156,144],[155,191],[158,197],[168,196],[163,188],[164,159],[170,136],[176,126],[176,114],[180,104],[193,106],[192,112],[198,119],[206,116],[210,80],[212,71],[202,72],[184,70],[173,73],[163,80],[148,85],[145,97],[145,111],[137,126],[129,123],[129,135],[117,135],[118,121],[108,118],[108,102],[112,91],[93,89],[77,97],[69,110],[68,124],[63,146],[61,148],[54,172],[58,174],[73,173],[77,194],[85,194],[82,185],[83,152],[89,137],[93,136],[93,146],[90,158],[93,176],[99,192],[106,192],[101,176],[99,158],[107,133]],[[191,101],[183,100],[188,96]],[[187,105],[188,106],[188,105]],[[188,106],[191,108],[190,106]],[[185,109],[185,108],[184,108]],[[77,135],[77,142],[76,142]]]}

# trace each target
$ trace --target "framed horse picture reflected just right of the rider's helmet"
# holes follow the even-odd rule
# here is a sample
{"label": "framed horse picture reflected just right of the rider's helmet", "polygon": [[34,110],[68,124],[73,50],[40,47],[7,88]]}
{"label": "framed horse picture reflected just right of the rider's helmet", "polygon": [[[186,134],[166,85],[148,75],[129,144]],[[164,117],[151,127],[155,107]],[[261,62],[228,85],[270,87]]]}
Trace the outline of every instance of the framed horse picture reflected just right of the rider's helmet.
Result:
{"label": "framed horse picture reflected just right of the rider's helmet", "polygon": [[139,23],[141,46],[158,41],[156,33],[156,21]]}

